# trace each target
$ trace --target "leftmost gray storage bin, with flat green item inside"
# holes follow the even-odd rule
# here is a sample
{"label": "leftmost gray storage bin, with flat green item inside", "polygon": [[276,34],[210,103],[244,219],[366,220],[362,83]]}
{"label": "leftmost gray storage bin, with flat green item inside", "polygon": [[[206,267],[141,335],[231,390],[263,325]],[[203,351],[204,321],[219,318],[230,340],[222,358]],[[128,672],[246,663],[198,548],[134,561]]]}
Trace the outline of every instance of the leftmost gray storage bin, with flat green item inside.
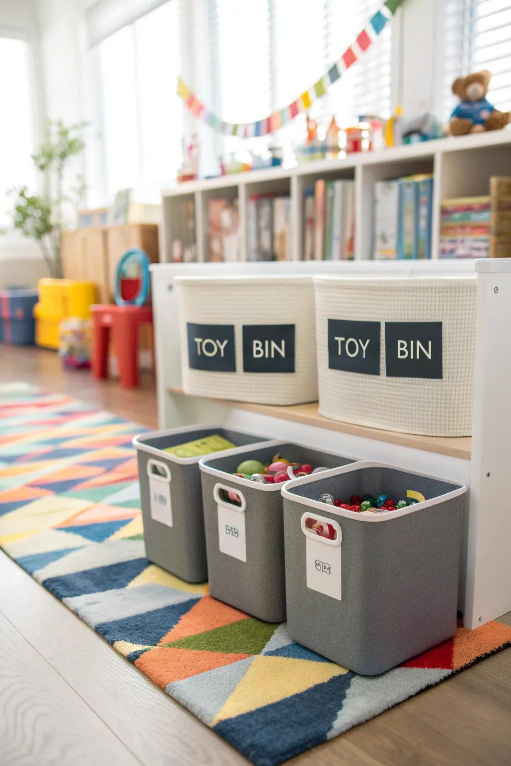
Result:
{"label": "leftmost gray storage bin, with flat green item inside", "polygon": [[[162,450],[213,434],[240,447],[267,438],[223,426],[192,425],[151,431],[133,439],[139,467],[146,556],[187,582],[203,582],[208,578],[200,457],[175,457]],[[150,483],[153,483],[152,494],[156,492],[160,500],[153,505]]]}

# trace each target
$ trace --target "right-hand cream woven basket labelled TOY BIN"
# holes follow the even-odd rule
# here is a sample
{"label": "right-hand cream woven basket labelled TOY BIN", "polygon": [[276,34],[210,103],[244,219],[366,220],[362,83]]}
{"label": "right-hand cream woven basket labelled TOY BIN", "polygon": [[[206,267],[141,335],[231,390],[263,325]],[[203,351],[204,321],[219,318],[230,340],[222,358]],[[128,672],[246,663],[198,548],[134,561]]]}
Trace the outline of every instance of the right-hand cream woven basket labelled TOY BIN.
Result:
{"label": "right-hand cream woven basket labelled TOY BIN", "polygon": [[321,414],[408,434],[471,434],[474,277],[314,283]]}

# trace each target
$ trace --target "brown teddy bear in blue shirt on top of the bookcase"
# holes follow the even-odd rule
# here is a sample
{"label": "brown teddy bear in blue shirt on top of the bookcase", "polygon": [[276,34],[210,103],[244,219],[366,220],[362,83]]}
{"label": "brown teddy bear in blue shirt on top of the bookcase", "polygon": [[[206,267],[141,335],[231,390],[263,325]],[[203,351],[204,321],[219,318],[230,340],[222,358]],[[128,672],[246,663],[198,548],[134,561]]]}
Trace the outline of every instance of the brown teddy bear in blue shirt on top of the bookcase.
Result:
{"label": "brown teddy bear in blue shirt on top of the bookcase", "polygon": [[485,69],[454,80],[452,91],[461,100],[450,115],[451,136],[497,130],[509,123],[509,112],[500,112],[486,100],[490,79],[491,72]]}

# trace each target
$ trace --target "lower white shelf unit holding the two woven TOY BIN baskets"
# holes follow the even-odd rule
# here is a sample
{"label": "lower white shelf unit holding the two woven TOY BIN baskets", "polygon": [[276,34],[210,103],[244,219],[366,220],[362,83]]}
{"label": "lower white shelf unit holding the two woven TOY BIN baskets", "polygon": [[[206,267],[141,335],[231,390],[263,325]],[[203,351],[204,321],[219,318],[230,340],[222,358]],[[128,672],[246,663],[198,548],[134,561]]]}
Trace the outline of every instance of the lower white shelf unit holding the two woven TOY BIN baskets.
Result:
{"label": "lower white shelf unit holding the two woven TOY BIN baskets", "polygon": [[[419,473],[466,484],[467,494],[458,607],[464,626],[475,628],[511,609],[511,513],[506,502],[511,453],[511,259],[327,261],[323,273],[372,275],[477,272],[477,341],[473,434],[470,439],[434,439],[391,434],[328,421],[303,407],[264,407],[183,394],[179,315],[175,277],[245,277],[264,273],[313,274],[316,261],[257,264],[154,264],[152,306],[155,322],[159,426],[224,423],[256,434],[341,451]],[[228,307],[227,307],[228,310]],[[303,411],[305,408],[305,411]]]}

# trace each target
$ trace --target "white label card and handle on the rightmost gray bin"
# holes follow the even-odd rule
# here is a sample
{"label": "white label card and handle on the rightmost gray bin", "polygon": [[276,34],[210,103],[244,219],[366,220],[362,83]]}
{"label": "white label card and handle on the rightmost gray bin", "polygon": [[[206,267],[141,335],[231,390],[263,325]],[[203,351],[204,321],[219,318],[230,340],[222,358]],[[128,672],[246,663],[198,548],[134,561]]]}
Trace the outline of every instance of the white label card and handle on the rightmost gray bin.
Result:
{"label": "white label card and handle on the rightmost gray bin", "polygon": [[[314,516],[319,521],[329,523],[336,529],[336,539],[318,537],[315,532],[306,529],[306,517]],[[323,519],[313,513],[306,513],[302,519],[302,530],[306,535],[306,574],[307,588],[341,601],[341,541],[342,532],[333,519]]]}

